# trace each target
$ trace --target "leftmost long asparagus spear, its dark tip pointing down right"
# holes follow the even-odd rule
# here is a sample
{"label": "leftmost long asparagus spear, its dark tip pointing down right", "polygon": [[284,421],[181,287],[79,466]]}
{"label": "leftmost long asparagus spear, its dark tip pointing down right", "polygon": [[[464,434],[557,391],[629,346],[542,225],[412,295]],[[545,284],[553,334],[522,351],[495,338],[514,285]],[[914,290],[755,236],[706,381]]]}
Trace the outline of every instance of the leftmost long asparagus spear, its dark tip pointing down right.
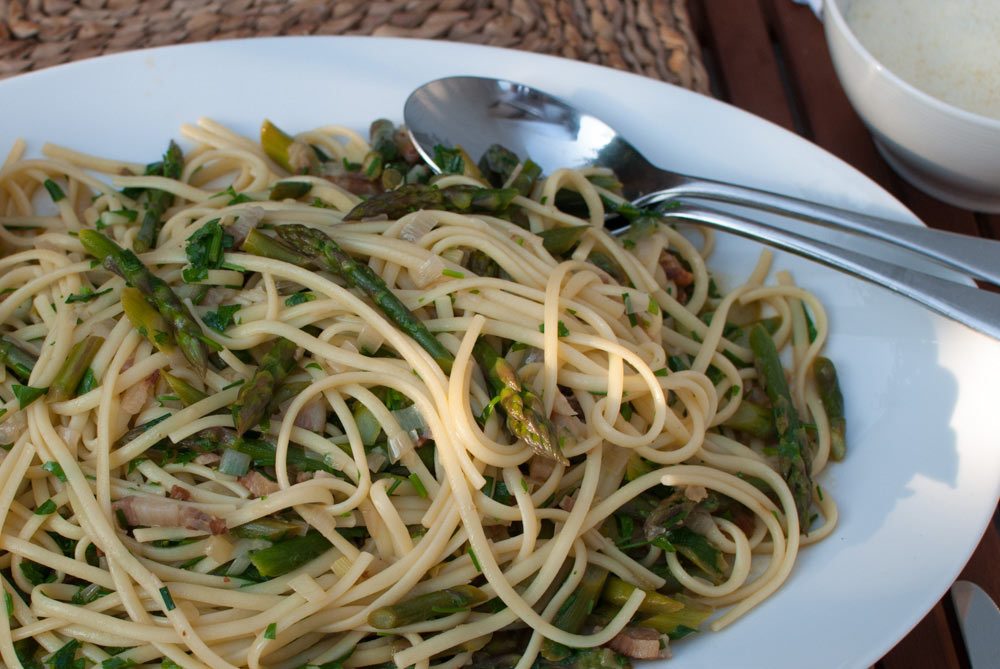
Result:
{"label": "leftmost long asparagus spear, its dark tip pointing down right", "polygon": [[198,322],[188,313],[166,281],[153,274],[142,261],[128,249],[115,244],[111,239],[94,230],[81,230],[80,243],[87,252],[97,258],[105,269],[114,272],[137,288],[146,300],[166,319],[167,337],[172,337],[180,346],[184,357],[199,372],[208,366],[208,350]]}

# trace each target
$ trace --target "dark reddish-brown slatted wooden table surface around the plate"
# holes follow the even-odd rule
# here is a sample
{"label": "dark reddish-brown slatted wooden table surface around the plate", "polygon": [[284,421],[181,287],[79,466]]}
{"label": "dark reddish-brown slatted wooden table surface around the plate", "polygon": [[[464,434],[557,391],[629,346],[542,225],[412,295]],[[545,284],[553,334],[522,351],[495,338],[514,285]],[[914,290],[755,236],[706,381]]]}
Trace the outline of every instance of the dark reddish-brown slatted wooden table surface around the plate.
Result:
{"label": "dark reddish-brown slatted wooden table surface around the plate", "polygon": [[[823,26],[811,10],[790,0],[688,0],[688,5],[717,97],[850,163],[932,227],[1000,238],[1000,216],[947,205],[905,183],[889,168],[844,95]],[[995,515],[961,575],[986,589],[995,601],[1000,601],[998,528]],[[968,666],[947,596],[876,664],[879,669]]]}

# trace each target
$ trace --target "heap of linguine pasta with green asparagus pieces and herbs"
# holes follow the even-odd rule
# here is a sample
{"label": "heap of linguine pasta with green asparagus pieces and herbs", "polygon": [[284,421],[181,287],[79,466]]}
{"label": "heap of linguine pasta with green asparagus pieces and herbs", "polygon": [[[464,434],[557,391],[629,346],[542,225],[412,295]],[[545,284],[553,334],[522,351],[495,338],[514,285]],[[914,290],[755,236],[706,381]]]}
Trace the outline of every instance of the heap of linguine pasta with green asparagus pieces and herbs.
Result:
{"label": "heap of linguine pasta with green asparagus pieces and herbs", "polygon": [[[0,171],[6,666],[623,666],[732,623],[832,531],[818,486],[796,508],[747,338],[784,350],[811,482],[836,440],[826,317],[769,280],[769,253],[721,286],[708,232],[643,215],[615,236],[596,169],[491,213],[345,222],[361,198],[340,166],[372,156],[353,133],[298,136],[293,169],[302,147],[326,166],[298,175],[213,122],[184,133],[179,178],[56,146]],[[458,172],[435,186],[484,185]],[[202,369],[152,289],[82,243],[133,248],[162,194],[139,258],[194,319]],[[241,248],[293,224],[370,268],[450,369],[349,277]],[[554,251],[545,231],[574,226]],[[477,342],[550,432],[517,432],[533,419]]]}

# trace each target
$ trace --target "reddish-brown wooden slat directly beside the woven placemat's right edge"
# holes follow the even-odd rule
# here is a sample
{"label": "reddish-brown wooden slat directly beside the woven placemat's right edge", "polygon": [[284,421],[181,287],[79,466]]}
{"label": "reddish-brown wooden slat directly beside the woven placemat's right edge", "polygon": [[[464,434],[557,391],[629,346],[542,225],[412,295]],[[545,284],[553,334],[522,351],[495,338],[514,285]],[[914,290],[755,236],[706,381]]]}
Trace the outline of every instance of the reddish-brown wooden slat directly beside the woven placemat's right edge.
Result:
{"label": "reddish-brown wooden slat directly beside the woven placemat's right edge", "polygon": [[760,3],[704,0],[700,4],[726,101],[796,130]]}

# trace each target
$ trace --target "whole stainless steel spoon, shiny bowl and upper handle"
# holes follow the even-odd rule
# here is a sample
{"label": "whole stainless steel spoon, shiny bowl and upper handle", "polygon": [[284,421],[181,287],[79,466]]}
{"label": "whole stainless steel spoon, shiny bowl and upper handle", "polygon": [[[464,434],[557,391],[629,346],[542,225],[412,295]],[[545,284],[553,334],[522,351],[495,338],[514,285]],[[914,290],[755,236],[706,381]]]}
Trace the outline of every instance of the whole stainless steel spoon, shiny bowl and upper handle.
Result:
{"label": "whole stainless steel spoon, shiny bowl and upper handle", "polygon": [[710,200],[749,207],[874,237],[1000,285],[998,241],[664,170],[600,119],[524,84],[484,77],[438,79],[410,95],[404,118],[417,149],[435,168],[437,144],[462,146],[478,157],[489,145],[499,143],[520,156],[530,156],[547,171],[610,167],[625,184],[625,197],[637,205]]}

